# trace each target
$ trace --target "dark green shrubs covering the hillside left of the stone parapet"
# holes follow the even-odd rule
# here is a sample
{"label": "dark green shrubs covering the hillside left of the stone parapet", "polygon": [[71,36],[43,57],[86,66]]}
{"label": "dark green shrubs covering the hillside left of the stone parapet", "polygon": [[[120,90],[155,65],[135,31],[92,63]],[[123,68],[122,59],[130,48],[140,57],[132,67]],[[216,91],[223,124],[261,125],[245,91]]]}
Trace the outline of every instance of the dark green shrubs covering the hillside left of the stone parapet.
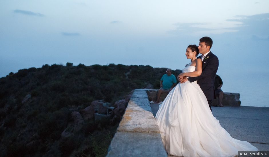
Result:
{"label": "dark green shrubs covering the hillside left of the stone parapet", "polygon": [[71,113],[94,100],[113,106],[135,88],[158,89],[165,71],[143,65],[66,63],[9,73],[0,79],[0,156],[105,156],[120,119],[85,120],[79,132],[62,138],[74,124]]}

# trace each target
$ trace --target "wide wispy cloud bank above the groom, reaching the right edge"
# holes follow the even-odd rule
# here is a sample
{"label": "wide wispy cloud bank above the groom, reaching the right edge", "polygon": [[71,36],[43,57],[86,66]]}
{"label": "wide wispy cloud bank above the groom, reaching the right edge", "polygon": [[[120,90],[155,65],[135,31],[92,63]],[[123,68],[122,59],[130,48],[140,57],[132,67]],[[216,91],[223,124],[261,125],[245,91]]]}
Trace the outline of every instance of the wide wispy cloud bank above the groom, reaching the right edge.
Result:
{"label": "wide wispy cloud bank above the groom, reaching the right edge", "polygon": [[[240,36],[247,36],[255,40],[267,41],[269,36],[269,13],[256,14],[251,16],[236,15],[234,19],[226,21],[233,22],[233,27],[223,27],[219,25],[212,27],[212,23],[175,23],[176,29],[167,33],[173,35],[205,35],[235,33]],[[252,36],[254,35],[254,36]]]}

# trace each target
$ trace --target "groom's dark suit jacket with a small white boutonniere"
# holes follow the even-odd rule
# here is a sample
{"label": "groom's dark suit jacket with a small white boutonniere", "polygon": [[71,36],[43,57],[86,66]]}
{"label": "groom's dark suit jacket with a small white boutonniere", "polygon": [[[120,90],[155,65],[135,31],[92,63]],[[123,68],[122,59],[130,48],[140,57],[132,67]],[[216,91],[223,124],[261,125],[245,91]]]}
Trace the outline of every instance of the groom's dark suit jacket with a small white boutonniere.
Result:
{"label": "groom's dark suit jacket with a small white boutonniere", "polygon": [[[201,56],[197,58],[201,58]],[[203,90],[207,100],[213,100],[216,98],[214,80],[219,67],[219,59],[212,52],[209,52],[202,63],[201,75],[197,77],[189,77],[189,81],[193,82],[197,80],[197,83]]]}

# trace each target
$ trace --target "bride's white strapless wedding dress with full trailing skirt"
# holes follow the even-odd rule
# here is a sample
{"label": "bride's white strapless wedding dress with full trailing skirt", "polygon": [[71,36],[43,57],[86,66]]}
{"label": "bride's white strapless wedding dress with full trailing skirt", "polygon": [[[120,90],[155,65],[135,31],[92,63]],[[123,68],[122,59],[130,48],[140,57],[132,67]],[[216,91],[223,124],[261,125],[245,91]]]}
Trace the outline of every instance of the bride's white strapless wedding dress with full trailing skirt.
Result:
{"label": "bride's white strapless wedding dress with full trailing skirt", "polygon": [[[195,71],[189,65],[183,73]],[[177,84],[160,105],[156,120],[163,145],[171,155],[234,157],[238,150],[258,150],[246,141],[232,138],[221,127],[197,81]]]}

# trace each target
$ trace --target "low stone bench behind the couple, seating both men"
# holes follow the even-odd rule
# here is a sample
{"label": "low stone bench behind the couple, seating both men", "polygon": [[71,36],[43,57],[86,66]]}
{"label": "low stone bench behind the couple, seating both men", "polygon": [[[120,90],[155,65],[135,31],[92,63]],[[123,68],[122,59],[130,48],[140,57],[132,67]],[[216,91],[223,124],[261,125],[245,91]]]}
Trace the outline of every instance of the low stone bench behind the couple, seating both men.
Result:
{"label": "low stone bench behind the couple, seating both men", "polygon": [[[147,89],[149,101],[156,100],[157,91],[158,91],[157,89]],[[166,98],[167,94],[168,94],[167,92],[161,94],[160,101],[163,101]],[[240,99],[240,93],[224,92],[222,104],[223,106],[240,106],[241,101],[239,99]],[[218,101],[219,98],[213,99],[212,105],[217,106]]]}

